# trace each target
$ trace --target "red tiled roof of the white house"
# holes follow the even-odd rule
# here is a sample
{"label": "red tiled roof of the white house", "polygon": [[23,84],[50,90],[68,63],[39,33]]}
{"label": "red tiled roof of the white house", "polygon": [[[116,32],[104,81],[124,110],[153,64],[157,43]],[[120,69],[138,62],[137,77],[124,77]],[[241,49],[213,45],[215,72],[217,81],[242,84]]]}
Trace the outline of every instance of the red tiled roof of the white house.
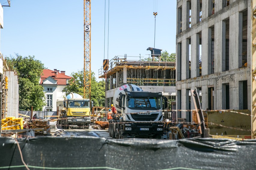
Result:
{"label": "red tiled roof of the white house", "polygon": [[49,69],[43,69],[40,84],[43,84],[43,81],[46,78],[48,78],[49,76],[52,77],[54,80],[56,80],[58,85],[67,85],[66,80],[72,78],[72,77],[62,74],[60,72],[58,72],[57,76],[54,77],[54,71],[49,70]]}

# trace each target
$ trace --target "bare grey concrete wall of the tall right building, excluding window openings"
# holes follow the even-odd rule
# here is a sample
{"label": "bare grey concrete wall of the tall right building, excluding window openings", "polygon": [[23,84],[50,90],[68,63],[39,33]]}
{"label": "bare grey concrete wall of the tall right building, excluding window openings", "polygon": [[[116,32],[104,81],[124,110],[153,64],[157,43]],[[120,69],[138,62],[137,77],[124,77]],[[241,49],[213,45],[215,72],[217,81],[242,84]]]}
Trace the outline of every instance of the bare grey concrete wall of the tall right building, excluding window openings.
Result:
{"label": "bare grey concrete wall of the tall right building, excluding window openings", "polygon": [[[192,1],[192,3],[199,1]],[[181,56],[181,60],[176,60],[177,70],[181,72],[181,80],[176,79],[176,90],[181,90],[180,95],[176,95],[176,98],[181,98],[181,109],[188,109],[188,93],[187,90],[194,89],[195,87],[202,88],[202,109],[208,107],[208,88],[214,87],[214,109],[223,109],[224,98],[223,84],[229,84],[229,105],[231,110],[239,110],[239,81],[247,81],[248,89],[248,109],[251,108],[251,0],[232,0],[230,5],[225,7],[224,0],[215,1],[215,13],[211,13],[211,0],[202,1],[202,21],[199,22],[197,16],[191,18],[191,28],[187,27],[187,0],[177,0],[177,10],[182,8],[182,31],[177,31],[176,35],[176,54]],[[192,4],[197,9],[197,4]],[[196,11],[191,9],[191,14]],[[248,27],[247,27],[247,62],[248,65],[245,68],[241,68],[241,13],[244,10],[248,10]],[[192,21],[194,19],[194,21]],[[226,25],[225,20],[229,19],[230,31],[229,31],[229,70],[225,70],[225,34]],[[178,21],[178,18],[177,18]],[[186,22],[186,23],[183,23]],[[177,22],[177,25],[179,23]],[[214,27],[214,73],[211,74],[211,53],[212,53],[212,27]],[[184,29],[187,28],[187,29]],[[199,76],[199,67],[196,56],[198,55],[199,37],[201,34],[202,44],[202,76]],[[187,66],[187,53],[188,42],[191,38],[191,78],[188,78],[188,66]],[[178,47],[181,44],[181,51]],[[240,57],[240,58],[239,58]],[[180,63],[179,63],[180,62]],[[182,63],[182,64],[181,64]],[[181,67],[181,68],[180,68]],[[253,68],[254,69],[254,68]],[[176,76],[177,78],[178,76]],[[179,102],[179,101],[178,101]],[[191,109],[193,109],[193,100],[191,99]],[[189,116],[187,112],[181,113],[181,118]],[[179,115],[178,115],[179,116]],[[179,116],[180,117],[180,116]]]}

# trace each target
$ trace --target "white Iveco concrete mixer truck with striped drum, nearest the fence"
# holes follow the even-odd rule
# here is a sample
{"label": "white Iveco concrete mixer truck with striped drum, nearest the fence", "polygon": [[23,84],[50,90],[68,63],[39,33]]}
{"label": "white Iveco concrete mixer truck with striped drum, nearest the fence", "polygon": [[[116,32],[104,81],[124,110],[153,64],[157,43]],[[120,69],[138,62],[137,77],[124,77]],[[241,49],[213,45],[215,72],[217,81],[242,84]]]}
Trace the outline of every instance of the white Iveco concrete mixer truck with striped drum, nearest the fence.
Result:
{"label": "white Iveco concrete mixer truck with striped drum, nearest the fence", "polygon": [[163,135],[163,109],[167,107],[167,98],[162,92],[144,92],[136,85],[123,84],[117,88],[113,104],[117,113],[109,121],[112,138],[160,139]]}

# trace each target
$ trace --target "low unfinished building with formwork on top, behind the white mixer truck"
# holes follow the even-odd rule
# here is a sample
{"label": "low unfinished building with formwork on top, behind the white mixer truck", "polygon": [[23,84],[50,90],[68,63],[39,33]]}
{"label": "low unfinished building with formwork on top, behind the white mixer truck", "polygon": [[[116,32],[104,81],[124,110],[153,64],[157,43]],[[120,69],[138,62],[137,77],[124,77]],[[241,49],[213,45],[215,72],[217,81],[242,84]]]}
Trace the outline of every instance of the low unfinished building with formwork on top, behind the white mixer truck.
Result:
{"label": "low unfinished building with formwork on top, behind the white mixer truck", "polygon": [[[152,56],[152,57],[151,57]],[[169,99],[169,107],[175,107],[175,62],[166,61],[165,56],[149,55],[148,58],[116,56],[109,61],[108,70],[99,69],[99,78],[106,78],[107,106],[113,103],[118,84],[130,83],[143,91],[162,92]],[[164,118],[169,119],[171,112],[166,111]]]}

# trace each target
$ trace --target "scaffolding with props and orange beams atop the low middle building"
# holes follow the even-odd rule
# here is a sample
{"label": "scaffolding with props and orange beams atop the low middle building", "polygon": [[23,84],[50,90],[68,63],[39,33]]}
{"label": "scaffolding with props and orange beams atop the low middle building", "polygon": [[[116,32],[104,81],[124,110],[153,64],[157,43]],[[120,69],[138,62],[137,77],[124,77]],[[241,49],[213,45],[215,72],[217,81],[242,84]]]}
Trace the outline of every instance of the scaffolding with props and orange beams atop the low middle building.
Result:
{"label": "scaffolding with props and orange beams atop the low middle building", "polygon": [[[151,54],[149,54],[151,55]],[[122,58],[120,58],[122,57]],[[118,83],[123,83],[124,69],[127,69],[127,83],[137,86],[175,86],[175,62],[174,61],[152,61],[151,57],[139,60],[128,60],[127,56],[115,56],[109,61],[106,71],[106,90],[114,89]],[[103,67],[99,69],[99,78],[105,78]]]}

